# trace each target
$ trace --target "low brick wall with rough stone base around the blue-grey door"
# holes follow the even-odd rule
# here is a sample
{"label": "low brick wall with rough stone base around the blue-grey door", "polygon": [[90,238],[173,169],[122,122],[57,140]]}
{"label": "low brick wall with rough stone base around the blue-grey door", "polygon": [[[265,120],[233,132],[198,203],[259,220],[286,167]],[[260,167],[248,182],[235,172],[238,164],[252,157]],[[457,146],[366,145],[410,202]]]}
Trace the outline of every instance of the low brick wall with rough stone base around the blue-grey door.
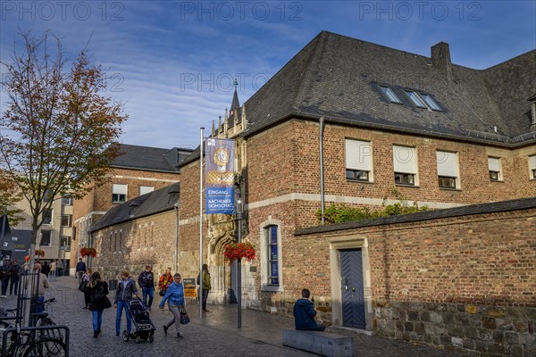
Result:
{"label": "low brick wall with rough stone base around the blue-grey door", "polygon": [[308,278],[297,275],[287,289],[311,286],[322,320],[332,320],[338,304],[328,280],[317,278],[330,260],[325,252],[339,239],[366,239],[377,333],[477,356],[536,353],[536,208],[295,239],[287,254],[311,264],[302,270]]}

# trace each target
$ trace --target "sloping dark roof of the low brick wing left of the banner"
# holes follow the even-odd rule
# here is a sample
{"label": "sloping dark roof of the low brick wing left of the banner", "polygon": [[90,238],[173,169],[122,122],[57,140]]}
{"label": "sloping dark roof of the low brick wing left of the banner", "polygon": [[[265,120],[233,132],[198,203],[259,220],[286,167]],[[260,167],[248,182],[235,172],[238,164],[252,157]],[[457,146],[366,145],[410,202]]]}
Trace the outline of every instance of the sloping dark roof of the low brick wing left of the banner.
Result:
{"label": "sloping dark roof of the low brick wing left of the banner", "polygon": [[173,210],[174,204],[179,201],[179,197],[179,182],[146,195],[140,195],[130,201],[112,207],[89,228],[89,232],[95,232],[99,229],[111,227],[129,220],[136,220],[155,213]]}

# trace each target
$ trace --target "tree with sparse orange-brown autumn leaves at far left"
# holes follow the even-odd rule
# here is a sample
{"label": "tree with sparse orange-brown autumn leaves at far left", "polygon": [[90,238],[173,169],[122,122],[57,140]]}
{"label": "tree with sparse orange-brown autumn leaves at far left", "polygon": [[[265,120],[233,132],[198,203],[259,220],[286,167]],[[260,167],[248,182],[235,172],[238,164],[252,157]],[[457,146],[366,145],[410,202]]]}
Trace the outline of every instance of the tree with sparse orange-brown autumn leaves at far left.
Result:
{"label": "tree with sparse orange-brown autumn leaves at far left", "polygon": [[33,253],[42,213],[53,203],[47,198],[78,198],[105,182],[127,115],[104,95],[105,71],[86,49],[70,60],[50,32],[19,35],[11,62],[2,62],[8,103],[0,121],[0,172],[29,202]]}

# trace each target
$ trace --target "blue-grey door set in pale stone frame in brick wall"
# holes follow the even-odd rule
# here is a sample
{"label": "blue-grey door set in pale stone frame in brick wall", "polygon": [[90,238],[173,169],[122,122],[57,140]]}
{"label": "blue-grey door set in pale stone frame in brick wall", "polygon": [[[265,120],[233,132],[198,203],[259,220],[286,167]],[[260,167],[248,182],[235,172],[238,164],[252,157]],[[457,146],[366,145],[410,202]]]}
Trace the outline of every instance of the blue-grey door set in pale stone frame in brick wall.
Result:
{"label": "blue-grey door set in pale stone frame in brick wall", "polygon": [[342,326],[365,328],[361,249],[340,251]]}

